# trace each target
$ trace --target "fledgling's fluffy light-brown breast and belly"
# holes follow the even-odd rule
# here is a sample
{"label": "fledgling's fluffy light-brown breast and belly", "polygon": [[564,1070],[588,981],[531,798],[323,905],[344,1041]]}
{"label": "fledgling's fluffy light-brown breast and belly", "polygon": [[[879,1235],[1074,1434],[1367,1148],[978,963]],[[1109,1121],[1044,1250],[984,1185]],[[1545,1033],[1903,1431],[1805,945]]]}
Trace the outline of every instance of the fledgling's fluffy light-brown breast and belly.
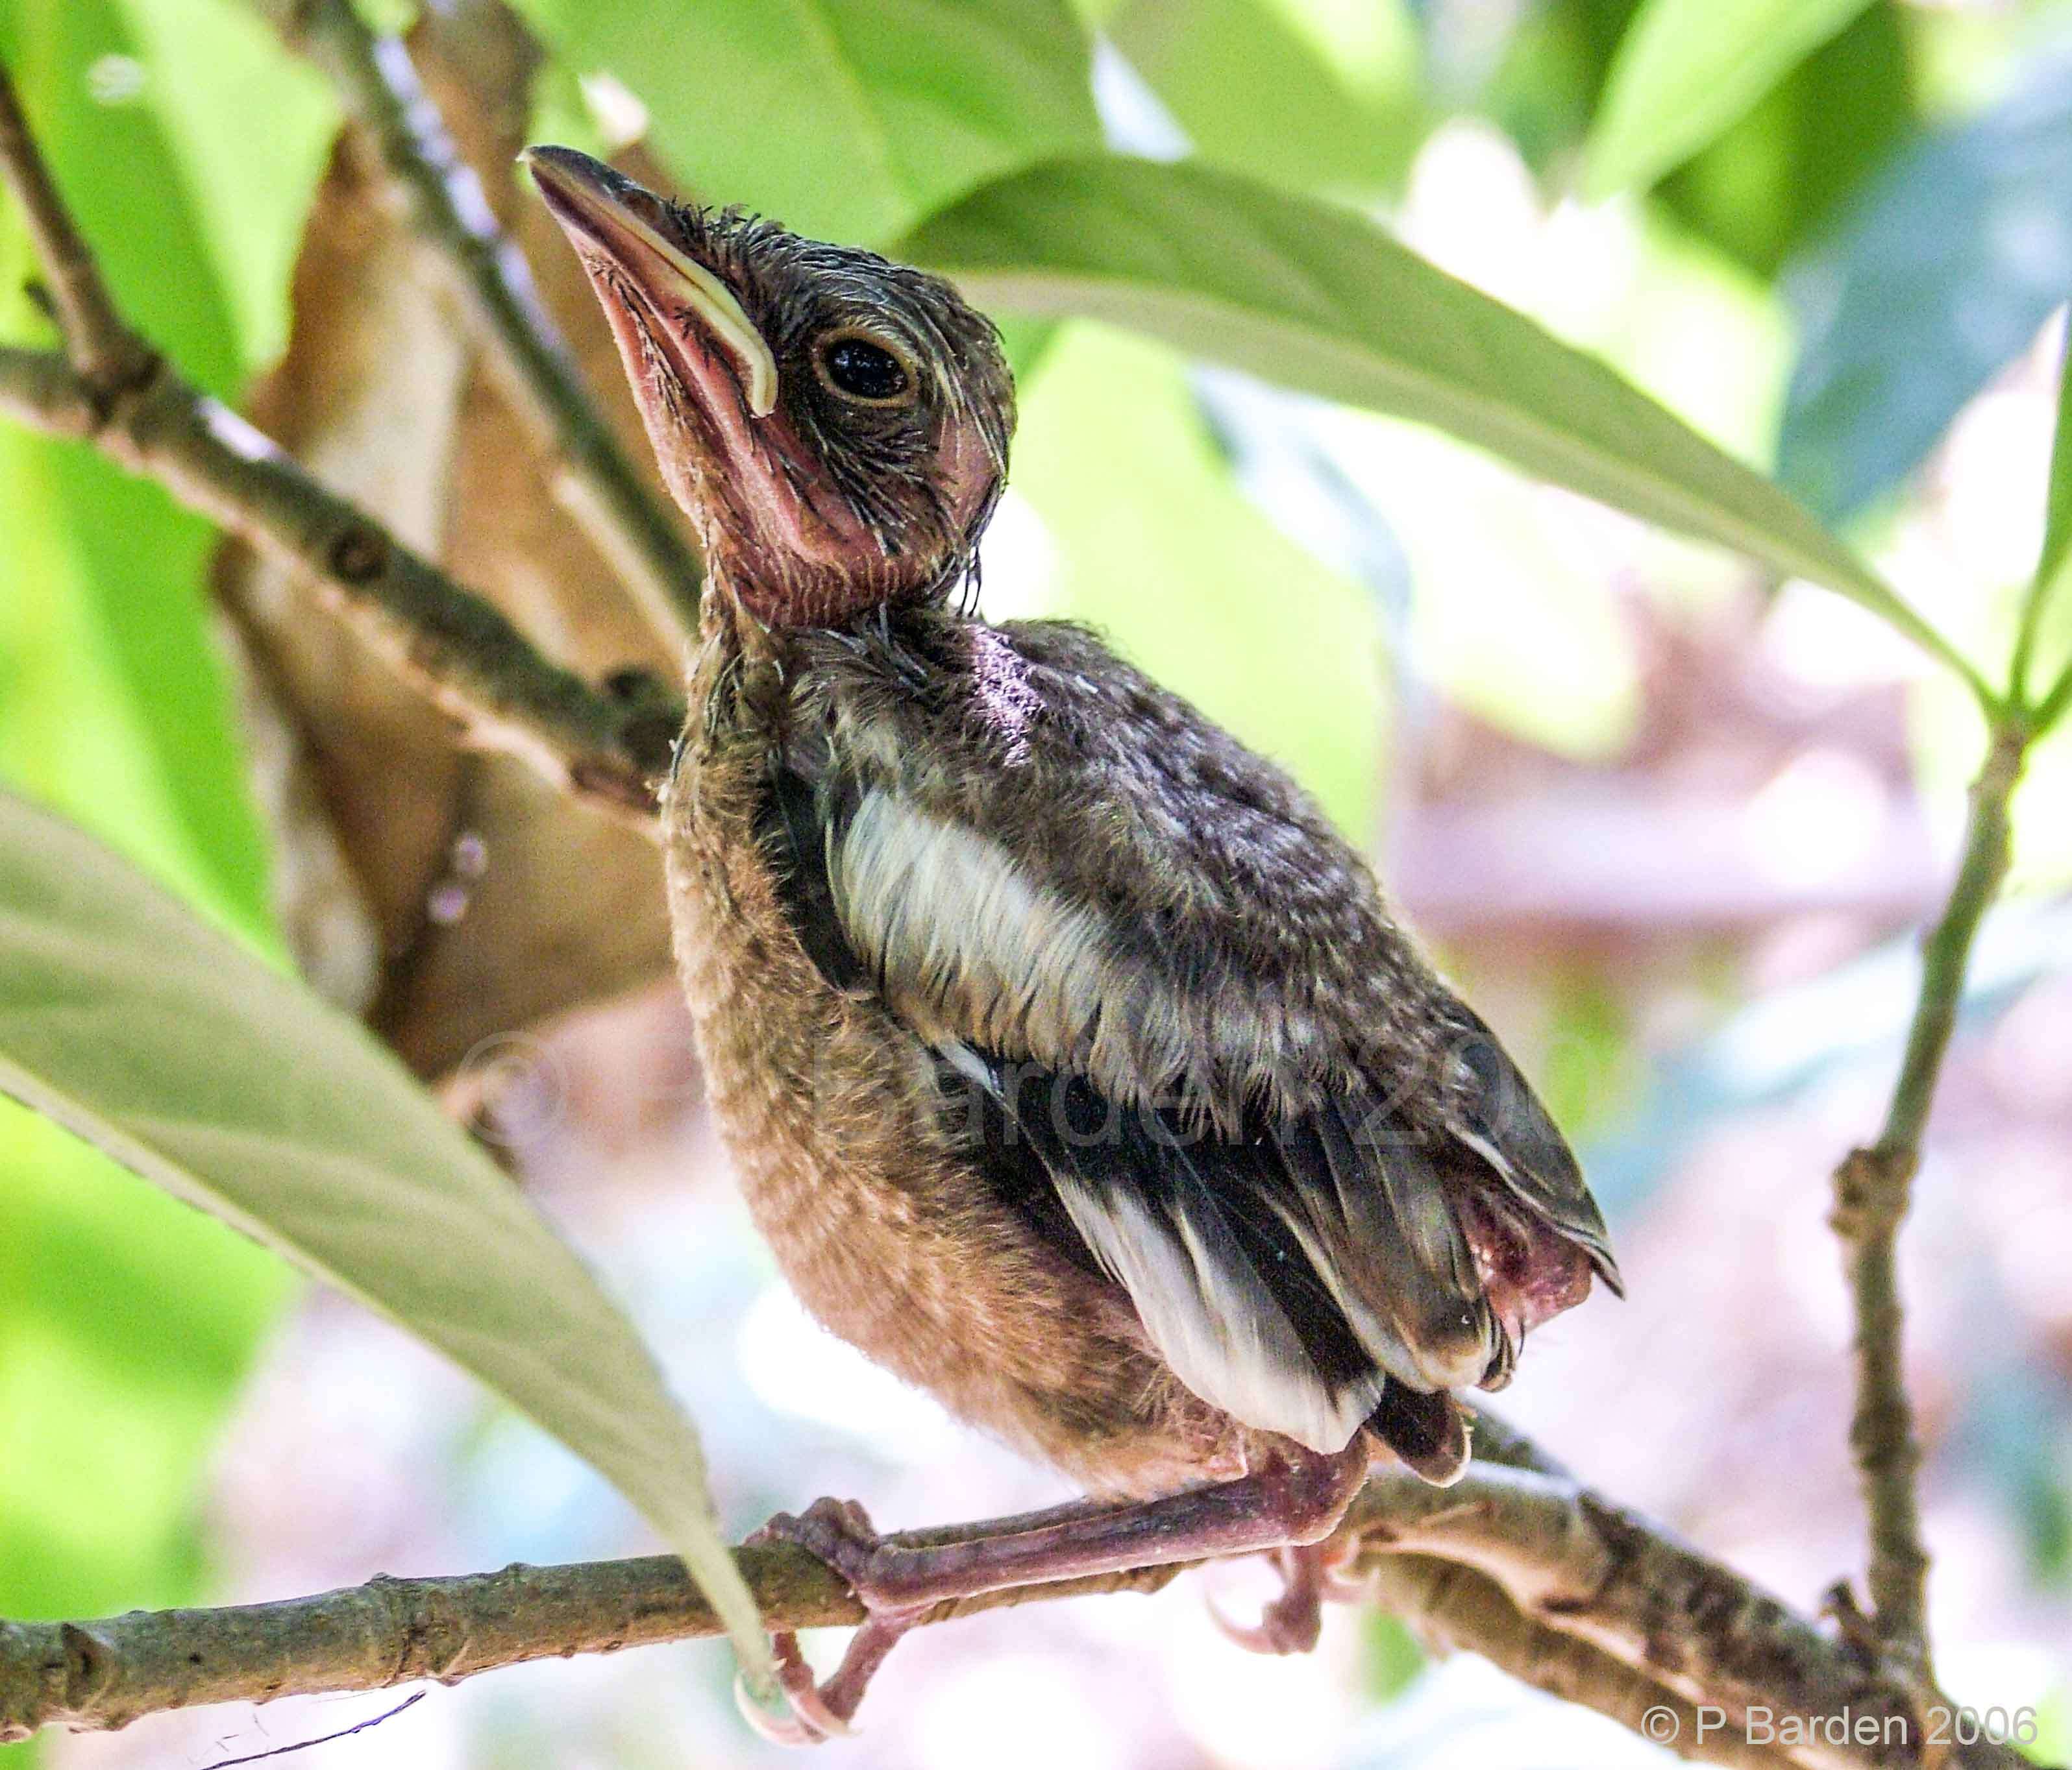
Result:
{"label": "fledgling's fluffy light-brown breast and belly", "polygon": [[771,735],[711,716],[711,691],[694,687],[663,801],[675,954],[750,1215],[800,1300],[1088,1486],[1150,1493],[1241,1459],[1241,1428],[1148,1352],[1127,1298],[974,1170],[926,1048],[814,969],[758,840]]}

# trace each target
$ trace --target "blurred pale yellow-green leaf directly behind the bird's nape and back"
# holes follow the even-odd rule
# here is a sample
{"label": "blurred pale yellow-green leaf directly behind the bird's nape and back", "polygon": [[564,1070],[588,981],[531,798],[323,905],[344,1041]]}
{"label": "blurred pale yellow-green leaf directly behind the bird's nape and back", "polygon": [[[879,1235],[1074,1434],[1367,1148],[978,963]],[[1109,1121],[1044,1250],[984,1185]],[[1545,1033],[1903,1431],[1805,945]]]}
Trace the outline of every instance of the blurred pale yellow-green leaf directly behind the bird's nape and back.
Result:
{"label": "blurred pale yellow-green leaf directly behind the bird's nape and back", "polygon": [[[1044,613],[1100,627],[1285,764],[1355,840],[1372,834],[1384,731],[1374,602],[1237,491],[1179,358],[1065,327],[1021,414],[1013,486],[1057,551]],[[988,578],[988,594],[999,588]]]}

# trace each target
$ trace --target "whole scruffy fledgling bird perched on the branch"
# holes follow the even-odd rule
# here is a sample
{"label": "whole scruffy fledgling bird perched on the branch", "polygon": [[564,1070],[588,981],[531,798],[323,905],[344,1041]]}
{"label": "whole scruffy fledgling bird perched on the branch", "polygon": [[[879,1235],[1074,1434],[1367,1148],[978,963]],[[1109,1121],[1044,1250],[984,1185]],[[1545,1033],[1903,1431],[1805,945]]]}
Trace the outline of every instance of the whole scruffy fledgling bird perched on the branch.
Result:
{"label": "whole scruffy fledgling bird perched on the branch", "polygon": [[1013,377],[955,288],[568,147],[524,155],[707,567],[661,791],[678,969],[804,1306],[1082,1499],[765,1536],[866,1621],[777,1737],[847,1731],[945,1598],[1266,1553],[1316,1642],[1370,1470],[1595,1279],[1554,1120],[1272,762],[1061,621],[976,611]]}

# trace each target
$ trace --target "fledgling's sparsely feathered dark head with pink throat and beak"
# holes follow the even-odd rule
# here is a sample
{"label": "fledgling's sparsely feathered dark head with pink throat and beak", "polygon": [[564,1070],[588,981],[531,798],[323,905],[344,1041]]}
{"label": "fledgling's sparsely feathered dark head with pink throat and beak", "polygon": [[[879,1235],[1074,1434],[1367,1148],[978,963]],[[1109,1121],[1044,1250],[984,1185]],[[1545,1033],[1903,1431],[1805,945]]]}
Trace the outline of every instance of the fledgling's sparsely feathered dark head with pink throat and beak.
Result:
{"label": "fledgling's sparsely feathered dark head with pink throat and beak", "polygon": [[767,627],[947,594],[1007,472],[999,333],[941,277],[524,155],[713,580]]}

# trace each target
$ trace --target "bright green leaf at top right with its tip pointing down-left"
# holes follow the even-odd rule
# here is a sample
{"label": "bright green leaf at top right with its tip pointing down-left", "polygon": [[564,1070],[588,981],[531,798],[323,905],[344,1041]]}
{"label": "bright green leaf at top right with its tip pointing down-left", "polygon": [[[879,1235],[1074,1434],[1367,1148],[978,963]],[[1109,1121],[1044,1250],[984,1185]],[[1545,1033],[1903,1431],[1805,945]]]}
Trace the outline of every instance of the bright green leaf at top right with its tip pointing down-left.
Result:
{"label": "bright green leaf at top right with its tip pointing down-left", "polygon": [[1647,0],[1612,58],[1583,188],[1680,166],[1871,0]]}

